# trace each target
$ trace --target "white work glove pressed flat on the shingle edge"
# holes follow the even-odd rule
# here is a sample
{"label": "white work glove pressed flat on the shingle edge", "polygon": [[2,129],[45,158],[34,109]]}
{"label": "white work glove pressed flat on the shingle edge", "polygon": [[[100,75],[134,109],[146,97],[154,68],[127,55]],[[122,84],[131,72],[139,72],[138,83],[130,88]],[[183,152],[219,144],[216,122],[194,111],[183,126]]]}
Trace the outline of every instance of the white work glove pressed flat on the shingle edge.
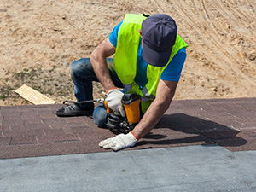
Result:
{"label": "white work glove pressed flat on the shingle edge", "polygon": [[137,138],[133,136],[131,132],[128,134],[119,134],[116,137],[108,138],[99,143],[101,148],[112,148],[114,151],[118,151],[122,148],[131,148],[137,143]]}

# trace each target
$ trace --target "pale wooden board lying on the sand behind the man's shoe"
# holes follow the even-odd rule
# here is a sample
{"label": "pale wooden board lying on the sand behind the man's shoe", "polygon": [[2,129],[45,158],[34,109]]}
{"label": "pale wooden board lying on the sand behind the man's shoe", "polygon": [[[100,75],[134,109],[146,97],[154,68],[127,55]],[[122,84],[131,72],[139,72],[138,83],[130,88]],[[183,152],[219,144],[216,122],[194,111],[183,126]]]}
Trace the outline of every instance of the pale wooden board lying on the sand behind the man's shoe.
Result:
{"label": "pale wooden board lying on the sand behind the man's shoe", "polygon": [[23,97],[29,102],[32,102],[35,105],[55,104],[54,100],[50,99],[47,96],[44,96],[37,90],[33,90],[26,84],[23,84],[19,89],[15,90],[15,93],[18,93],[21,97]]}

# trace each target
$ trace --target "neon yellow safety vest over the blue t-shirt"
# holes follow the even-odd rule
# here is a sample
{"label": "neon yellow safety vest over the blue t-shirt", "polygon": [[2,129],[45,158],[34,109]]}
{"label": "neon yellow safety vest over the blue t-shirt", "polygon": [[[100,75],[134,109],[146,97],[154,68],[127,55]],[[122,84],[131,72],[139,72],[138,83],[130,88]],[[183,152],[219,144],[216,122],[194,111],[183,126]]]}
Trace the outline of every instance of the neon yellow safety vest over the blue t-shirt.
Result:
{"label": "neon yellow safety vest over the blue t-shirt", "polygon": [[138,95],[142,96],[141,107],[143,113],[146,112],[149,105],[155,98],[161,73],[170,61],[172,61],[173,56],[177,54],[179,49],[188,47],[188,44],[186,44],[183,39],[177,35],[168,64],[164,67],[148,65],[148,83],[141,90],[134,82],[134,79],[137,71],[137,51],[141,38],[138,29],[142,29],[143,20],[146,18],[147,17],[144,15],[125,15],[125,19],[119,28],[116,52],[113,59],[113,67],[119,79],[124,84],[125,89],[128,91],[135,91]]}

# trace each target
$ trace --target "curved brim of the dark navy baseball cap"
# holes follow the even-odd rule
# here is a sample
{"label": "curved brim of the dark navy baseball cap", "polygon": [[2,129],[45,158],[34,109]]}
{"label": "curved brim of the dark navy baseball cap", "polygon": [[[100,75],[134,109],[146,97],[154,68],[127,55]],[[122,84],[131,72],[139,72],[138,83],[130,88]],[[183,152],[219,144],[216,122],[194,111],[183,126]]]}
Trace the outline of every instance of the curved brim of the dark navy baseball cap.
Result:
{"label": "curved brim of the dark navy baseball cap", "polygon": [[157,52],[150,49],[147,44],[143,44],[143,59],[148,64],[155,67],[163,67],[169,61],[172,49],[165,52]]}

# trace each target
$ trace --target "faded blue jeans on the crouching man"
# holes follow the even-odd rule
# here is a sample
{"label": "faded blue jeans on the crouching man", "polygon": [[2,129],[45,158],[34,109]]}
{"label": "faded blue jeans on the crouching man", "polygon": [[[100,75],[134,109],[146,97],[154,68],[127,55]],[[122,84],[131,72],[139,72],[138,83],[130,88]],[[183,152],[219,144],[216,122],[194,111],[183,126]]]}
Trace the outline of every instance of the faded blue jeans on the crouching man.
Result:
{"label": "faded blue jeans on the crouching man", "polygon": [[[123,88],[123,84],[118,78],[117,74],[113,68],[113,59],[107,58],[107,64],[109,69],[109,74],[111,79],[113,80],[113,84],[119,88]],[[80,59],[78,61],[74,61],[70,67],[71,78],[74,84],[74,95],[76,96],[78,102],[91,100],[93,87],[92,81],[99,82],[94,73],[94,70],[90,63],[90,58]],[[84,103],[79,104],[79,108],[83,109],[91,109],[94,108],[94,103]],[[103,104],[94,109],[93,119],[96,125],[99,127],[106,127],[106,118],[107,118],[107,110]]]}

